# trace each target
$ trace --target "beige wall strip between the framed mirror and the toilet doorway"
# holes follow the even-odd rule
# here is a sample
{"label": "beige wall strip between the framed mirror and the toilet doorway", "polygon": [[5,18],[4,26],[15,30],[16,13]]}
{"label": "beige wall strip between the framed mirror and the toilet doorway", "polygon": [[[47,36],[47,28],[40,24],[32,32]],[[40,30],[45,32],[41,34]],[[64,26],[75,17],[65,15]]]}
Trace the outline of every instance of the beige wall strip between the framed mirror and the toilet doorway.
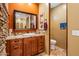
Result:
{"label": "beige wall strip between the framed mirror and the toilet doorway", "polygon": [[[47,31],[44,32],[45,34],[45,50],[46,53],[49,54],[49,5],[46,5],[45,3],[39,4],[39,21],[38,21],[38,27],[40,29],[40,15],[43,14],[43,20],[47,19],[48,28]],[[41,33],[43,33],[41,31]]]}

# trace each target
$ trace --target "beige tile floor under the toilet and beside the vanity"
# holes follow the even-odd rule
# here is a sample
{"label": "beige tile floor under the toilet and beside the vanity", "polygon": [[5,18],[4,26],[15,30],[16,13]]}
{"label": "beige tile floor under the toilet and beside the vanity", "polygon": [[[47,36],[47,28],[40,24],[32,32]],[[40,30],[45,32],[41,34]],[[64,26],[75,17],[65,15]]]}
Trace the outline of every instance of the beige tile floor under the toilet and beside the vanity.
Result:
{"label": "beige tile floor under the toilet and beside the vanity", "polygon": [[[37,56],[49,56],[49,55],[47,55],[45,52],[43,52]],[[50,56],[66,56],[66,50],[56,47],[56,49],[51,50]]]}

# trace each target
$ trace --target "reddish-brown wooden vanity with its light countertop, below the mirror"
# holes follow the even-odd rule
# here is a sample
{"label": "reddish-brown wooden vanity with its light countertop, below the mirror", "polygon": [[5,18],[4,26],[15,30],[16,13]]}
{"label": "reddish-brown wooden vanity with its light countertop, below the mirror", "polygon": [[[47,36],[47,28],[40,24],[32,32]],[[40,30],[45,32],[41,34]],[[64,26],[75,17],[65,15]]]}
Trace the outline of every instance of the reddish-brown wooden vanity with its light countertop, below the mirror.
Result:
{"label": "reddish-brown wooden vanity with its light countertop, below the mirror", "polygon": [[33,56],[45,51],[44,35],[22,35],[7,37],[6,52],[8,56]]}

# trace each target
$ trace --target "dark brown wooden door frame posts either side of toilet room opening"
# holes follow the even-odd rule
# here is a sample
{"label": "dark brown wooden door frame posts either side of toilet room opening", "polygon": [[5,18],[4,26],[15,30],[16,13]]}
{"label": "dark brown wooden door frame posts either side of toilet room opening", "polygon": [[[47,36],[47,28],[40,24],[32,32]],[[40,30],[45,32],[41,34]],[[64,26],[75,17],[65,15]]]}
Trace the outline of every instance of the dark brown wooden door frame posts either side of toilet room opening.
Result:
{"label": "dark brown wooden door frame posts either side of toilet room opening", "polygon": [[[68,3],[66,4],[66,22],[67,22],[67,29],[66,29],[66,56],[68,56]],[[49,3],[49,55],[50,55],[50,11],[51,11],[51,3]]]}

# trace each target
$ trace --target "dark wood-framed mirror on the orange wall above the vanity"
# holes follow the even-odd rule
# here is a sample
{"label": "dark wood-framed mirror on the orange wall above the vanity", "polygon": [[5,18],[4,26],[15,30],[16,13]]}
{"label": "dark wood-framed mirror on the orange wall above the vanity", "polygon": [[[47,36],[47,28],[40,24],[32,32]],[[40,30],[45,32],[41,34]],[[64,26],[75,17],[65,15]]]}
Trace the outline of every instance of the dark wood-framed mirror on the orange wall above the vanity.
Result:
{"label": "dark wood-framed mirror on the orange wall above the vanity", "polygon": [[36,14],[14,10],[14,29],[36,29]]}

